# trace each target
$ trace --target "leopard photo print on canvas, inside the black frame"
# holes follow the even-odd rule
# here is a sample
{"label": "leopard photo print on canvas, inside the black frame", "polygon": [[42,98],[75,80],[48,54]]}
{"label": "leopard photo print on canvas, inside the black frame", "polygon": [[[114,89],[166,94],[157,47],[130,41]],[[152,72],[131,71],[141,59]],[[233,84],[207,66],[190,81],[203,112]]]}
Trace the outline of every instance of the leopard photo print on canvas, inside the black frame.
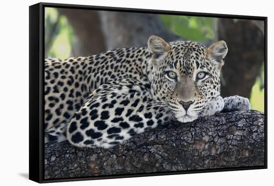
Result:
{"label": "leopard photo print on canvas, inside the black frame", "polygon": [[44,7],[44,179],[265,166],[264,26]]}

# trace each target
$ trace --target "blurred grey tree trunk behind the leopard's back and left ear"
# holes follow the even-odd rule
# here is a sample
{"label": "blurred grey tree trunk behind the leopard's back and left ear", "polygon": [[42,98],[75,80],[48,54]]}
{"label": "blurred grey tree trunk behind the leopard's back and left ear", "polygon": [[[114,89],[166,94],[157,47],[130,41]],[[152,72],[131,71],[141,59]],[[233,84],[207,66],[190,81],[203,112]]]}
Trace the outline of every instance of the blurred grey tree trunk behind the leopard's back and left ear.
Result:
{"label": "blurred grey tree trunk behind the leopard's back and left ear", "polygon": [[179,39],[164,27],[157,14],[99,11],[99,15],[108,49],[147,46],[151,35],[166,41]]}

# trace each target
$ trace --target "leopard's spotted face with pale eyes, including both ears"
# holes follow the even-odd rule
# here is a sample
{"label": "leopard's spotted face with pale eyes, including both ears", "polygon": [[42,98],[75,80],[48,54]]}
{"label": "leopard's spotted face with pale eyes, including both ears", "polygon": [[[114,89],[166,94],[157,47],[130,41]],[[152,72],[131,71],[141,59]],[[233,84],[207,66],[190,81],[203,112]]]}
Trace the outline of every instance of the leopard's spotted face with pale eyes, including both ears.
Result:
{"label": "leopard's spotted face with pale eyes, including both ears", "polygon": [[[152,38],[151,38],[152,37]],[[148,47],[153,64],[151,93],[180,122],[191,122],[220,95],[220,70],[227,53],[224,41],[209,48],[190,41],[167,44],[151,36]],[[154,49],[154,50],[153,50]]]}

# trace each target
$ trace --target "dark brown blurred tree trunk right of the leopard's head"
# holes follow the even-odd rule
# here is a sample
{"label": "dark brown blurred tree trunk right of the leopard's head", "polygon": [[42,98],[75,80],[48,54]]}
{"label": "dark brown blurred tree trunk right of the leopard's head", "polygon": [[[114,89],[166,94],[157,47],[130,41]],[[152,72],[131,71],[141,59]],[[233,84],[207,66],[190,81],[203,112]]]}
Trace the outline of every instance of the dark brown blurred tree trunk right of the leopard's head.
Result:
{"label": "dark brown blurred tree trunk right of the leopard's head", "polygon": [[228,54],[222,69],[224,81],[221,95],[241,95],[249,98],[265,60],[265,40],[262,32],[264,21],[257,21],[255,24],[251,20],[220,18],[218,22],[219,40],[225,40],[228,45]]}

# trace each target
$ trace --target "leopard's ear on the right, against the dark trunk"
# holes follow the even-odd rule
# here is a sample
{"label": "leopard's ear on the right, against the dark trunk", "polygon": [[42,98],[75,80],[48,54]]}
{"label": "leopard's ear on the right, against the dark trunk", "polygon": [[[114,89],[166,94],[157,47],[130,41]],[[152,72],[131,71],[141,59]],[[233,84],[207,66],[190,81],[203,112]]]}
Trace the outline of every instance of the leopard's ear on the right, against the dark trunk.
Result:
{"label": "leopard's ear on the right, against the dark trunk", "polygon": [[219,70],[224,65],[224,58],[228,52],[225,41],[218,41],[210,45],[206,50],[206,55],[211,63]]}

